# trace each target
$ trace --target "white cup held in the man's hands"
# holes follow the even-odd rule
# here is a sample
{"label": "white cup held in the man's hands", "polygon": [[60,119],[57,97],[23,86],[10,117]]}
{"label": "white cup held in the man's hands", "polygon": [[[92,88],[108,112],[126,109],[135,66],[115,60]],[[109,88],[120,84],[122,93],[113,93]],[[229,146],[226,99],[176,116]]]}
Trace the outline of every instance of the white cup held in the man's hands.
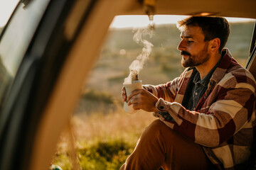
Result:
{"label": "white cup held in the man's hands", "polygon": [[[132,84],[123,84],[127,97],[136,89],[142,89],[142,80],[132,81]],[[128,106],[128,101],[124,101],[124,111],[127,113],[136,113],[138,110],[134,110],[132,105]]]}

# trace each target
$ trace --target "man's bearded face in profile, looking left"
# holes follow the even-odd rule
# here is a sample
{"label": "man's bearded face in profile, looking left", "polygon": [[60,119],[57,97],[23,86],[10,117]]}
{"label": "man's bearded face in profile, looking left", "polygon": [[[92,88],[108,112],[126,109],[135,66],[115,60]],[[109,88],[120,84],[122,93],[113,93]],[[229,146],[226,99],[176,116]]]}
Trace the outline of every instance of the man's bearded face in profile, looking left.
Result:
{"label": "man's bearded face in profile, looking left", "polygon": [[188,26],[181,32],[181,51],[183,67],[194,67],[208,62],[208,42],[204,42],[203,30],[199,26]]}

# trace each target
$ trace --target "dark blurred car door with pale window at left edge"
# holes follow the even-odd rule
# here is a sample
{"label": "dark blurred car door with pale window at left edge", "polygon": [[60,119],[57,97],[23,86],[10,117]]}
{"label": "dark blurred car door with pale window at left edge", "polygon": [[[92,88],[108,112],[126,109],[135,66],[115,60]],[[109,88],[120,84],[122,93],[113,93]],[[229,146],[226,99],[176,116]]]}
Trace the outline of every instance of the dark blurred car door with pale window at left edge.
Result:
{"label": "dark blurred car door with pale window at left edge", "polygon": [[[72,14],[77,1],[20,1],[4,28],[0,169],[28,169],[44,107],[94,4],[82,1]],[[70,19],[72,15],[77,18]]]}

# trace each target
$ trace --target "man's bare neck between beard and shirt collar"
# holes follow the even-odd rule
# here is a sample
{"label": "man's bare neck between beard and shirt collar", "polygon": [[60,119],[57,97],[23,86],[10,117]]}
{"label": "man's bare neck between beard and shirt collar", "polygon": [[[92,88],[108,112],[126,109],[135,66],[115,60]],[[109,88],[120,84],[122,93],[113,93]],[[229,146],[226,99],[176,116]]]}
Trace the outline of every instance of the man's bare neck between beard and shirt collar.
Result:
{"label": "man's bare neck between beard and shirt collar", "polygon": [[211,69],[213,69],[213,67],[215,66],[215,64],[218,63],[220,58],[221,55],[218,53],[216,55],[210,56],[208,62],[196,66],[196,69],[200,74],[201,80],[206,77],[206,75],[210,72]]}

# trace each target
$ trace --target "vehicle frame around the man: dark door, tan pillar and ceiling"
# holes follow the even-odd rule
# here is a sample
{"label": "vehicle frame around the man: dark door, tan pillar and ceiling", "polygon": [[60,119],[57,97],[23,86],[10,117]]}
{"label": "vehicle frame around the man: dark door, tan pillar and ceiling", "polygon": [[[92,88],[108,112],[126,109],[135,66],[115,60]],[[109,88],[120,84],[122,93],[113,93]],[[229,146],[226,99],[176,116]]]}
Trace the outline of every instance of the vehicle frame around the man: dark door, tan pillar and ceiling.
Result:
{"label": "vehicle frame around the man: dark door, tan pillar and ceiling", "polygon": [[[49,169],[114,16],[256,19],[255,6],[255,0],[19,1],[0,36],[9,70],[0,87],[0,169]],[[255,28],[251,35],[245,68],[256,77]]]}

